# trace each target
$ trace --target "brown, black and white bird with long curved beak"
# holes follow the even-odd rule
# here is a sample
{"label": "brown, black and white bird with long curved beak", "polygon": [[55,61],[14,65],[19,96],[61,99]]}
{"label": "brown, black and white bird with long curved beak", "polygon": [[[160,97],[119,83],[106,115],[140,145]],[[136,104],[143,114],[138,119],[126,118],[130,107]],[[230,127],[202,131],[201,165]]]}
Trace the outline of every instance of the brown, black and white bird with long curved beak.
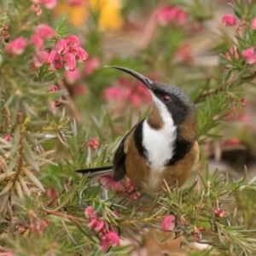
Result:
{"label": "brown, black and white bird with long curved beak", "polygon": [[199,160],[195,104],[182,89],[154,82],[126,67],[108,66],[141,81],[152,96],[152,110],[119,143],[113,166],[76,170],[81,173],[113,172],[114,181],[129,177],[138,190],[157,195],[166,183],[181,187]]}

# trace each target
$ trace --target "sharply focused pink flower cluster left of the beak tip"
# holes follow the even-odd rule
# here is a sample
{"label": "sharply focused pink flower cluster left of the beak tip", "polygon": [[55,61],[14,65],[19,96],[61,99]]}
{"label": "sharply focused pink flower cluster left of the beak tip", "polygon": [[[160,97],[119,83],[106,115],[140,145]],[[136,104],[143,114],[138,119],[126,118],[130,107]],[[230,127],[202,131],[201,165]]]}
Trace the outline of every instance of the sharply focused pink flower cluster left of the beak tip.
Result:
{"label": "sharply focused pink flower cluster left of the beak tip", "polygon": [[41,67],[44,62],[53,70],[65,67],[66,70],[73,71],[77,67],[77,61],[86,61],[87,52],[80,46],[79,38],[70,35],[66,39],[60,39],[50,52],[39,51],[33,57],[33,66]]}

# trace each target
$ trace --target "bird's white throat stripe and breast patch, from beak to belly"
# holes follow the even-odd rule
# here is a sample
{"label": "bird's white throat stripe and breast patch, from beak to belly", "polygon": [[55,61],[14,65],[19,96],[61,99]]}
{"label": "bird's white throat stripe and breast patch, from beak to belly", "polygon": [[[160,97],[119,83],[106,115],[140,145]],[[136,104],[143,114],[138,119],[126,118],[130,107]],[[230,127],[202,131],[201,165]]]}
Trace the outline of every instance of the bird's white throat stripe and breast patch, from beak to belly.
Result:
{"label": "bird's white throat stripe and breast patch, from beak to belly", "polygon": [[148,179],[151,186],[154,187],[159,182],[159,180],[155,180],[155,172],[163,172],[166,161],[170,160],[174,154],[177,127],[174,125],[172,115],[168,112],[166,105],[160,102],[156,96],[152,97],[164,122],[160,130],[154,130],[148,125],[148,119],[143,121],[143,147],[147,150],[148,164],[152,174]]}

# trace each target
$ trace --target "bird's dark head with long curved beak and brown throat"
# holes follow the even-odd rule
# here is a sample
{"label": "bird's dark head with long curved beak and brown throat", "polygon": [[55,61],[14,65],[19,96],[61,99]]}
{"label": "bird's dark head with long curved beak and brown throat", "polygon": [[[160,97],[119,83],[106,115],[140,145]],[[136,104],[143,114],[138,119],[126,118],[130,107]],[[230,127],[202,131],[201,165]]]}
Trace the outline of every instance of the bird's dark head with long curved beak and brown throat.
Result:
{"label": "bird's dark head with long curved beak and brown throat", "polygon": [[[195,105],[189,95],[182,89],[171,84],[160,84],[147,79],[142,74],[125,67],[108,66],[131,74],[147,86],[152,95],[153,110],[148,117],[148,124],[154,129],[160,129],[166,120],[172,119],[177,127],[190,127],[191,131],[197,131]],[[188,128],[186,128],[188,130]]]}

